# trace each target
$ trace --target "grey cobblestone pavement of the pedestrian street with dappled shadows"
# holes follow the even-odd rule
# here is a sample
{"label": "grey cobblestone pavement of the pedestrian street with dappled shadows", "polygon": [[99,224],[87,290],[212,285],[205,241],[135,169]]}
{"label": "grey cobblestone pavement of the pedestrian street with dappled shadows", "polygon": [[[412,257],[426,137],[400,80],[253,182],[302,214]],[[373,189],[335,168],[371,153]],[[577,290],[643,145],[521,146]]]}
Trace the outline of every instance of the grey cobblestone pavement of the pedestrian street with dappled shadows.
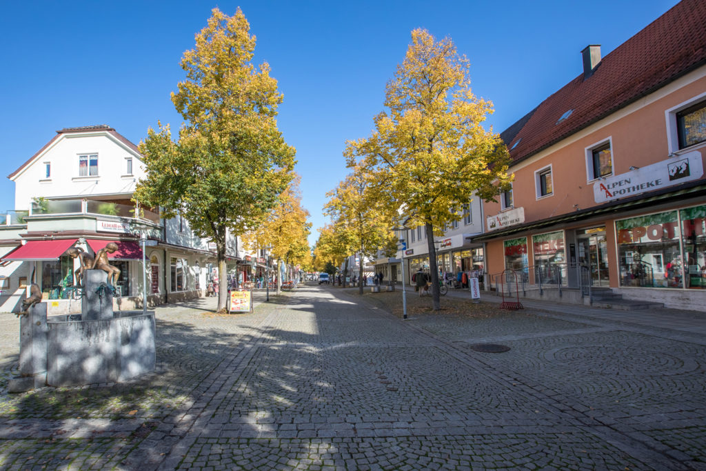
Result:
{"label": "grey cobblestone pavement of the pedestrian street with dappled shadows", "polygon": [[19,323],[0,314],[0,468],[706,470],[698,328],[571,306],[401,321],[318,285],[263,297],[249,315],[157,309],[148,377],[19,395]]}

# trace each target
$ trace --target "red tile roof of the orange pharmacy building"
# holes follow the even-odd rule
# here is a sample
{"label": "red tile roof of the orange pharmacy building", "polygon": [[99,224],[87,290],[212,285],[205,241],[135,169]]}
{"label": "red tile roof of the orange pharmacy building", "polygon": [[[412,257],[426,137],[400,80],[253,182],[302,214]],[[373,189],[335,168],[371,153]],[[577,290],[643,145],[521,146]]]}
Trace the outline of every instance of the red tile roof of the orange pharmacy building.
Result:
{"label": "red tile roof of the orange pharmacy building", "polygon": [[510,156],[525,160],[705,64],[706,1],[683,0],[504,131],[508,149],[522,139]]}

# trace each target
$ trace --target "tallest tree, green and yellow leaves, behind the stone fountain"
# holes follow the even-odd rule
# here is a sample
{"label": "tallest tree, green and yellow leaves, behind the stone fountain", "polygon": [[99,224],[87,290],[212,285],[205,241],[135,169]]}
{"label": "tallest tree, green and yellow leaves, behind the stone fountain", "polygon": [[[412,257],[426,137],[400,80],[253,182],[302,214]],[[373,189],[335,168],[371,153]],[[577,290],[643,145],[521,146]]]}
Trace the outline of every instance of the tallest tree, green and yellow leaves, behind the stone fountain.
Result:
{"label": "tallest tree, green and yellow leaves, behind the stone fountain", "polygon": [[277,205],[292,179],[294,148],[277,129],[282,94],[270,67],[251,64],[255,37],[240,9],[217,8],[184,52],[172,102],[186,121],[178,141],[169,125],[150,129],[140,143],[147,175],[135,198],[160,205],[165,217],[189,220],[199,237],[216,244],[220,279],[218,310],[225,306],[226,236],[256,227]]}

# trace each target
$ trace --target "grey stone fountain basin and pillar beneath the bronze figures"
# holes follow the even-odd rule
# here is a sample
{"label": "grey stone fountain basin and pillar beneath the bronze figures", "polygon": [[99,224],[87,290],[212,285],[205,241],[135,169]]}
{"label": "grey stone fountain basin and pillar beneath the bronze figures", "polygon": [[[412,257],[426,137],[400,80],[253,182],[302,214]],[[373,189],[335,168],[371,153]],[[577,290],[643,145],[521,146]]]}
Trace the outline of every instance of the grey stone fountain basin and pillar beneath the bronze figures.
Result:
{"label": "grey stone fountain basin and pillar beneath the bronze figures", "polygon": [[[20,319],[20,376],[8,390],[114,383],[155,369],[154,311],[113,311],[109,270],[83,272],[81,314],[47,318],[47,303]],[[112,277],[111,277],[112,278]]]}

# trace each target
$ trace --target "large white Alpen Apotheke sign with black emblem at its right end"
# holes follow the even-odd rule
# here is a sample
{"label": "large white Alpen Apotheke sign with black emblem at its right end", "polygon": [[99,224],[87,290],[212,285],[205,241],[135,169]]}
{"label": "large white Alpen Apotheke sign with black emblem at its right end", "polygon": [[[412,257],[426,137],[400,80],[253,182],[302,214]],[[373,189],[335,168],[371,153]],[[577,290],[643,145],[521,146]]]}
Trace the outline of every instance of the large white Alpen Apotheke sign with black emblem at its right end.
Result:
{"label": "large white Alpen Apotheke sign with black emblem at its right end", "polygon": [[656,164],[615,175],[593,184],[596,203],[606,203],[628,196],[698,180],[704,174],[701,153],[697,150]]}

